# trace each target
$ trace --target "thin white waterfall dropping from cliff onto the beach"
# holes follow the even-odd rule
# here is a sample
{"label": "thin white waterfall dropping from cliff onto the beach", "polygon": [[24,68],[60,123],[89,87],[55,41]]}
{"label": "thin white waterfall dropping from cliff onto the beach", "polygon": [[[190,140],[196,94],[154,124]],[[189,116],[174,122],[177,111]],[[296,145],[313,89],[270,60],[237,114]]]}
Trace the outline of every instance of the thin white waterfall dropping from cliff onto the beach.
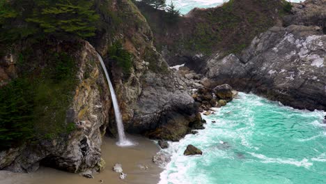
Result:
{"label": "thin white waterfall dropping from cliff onto the beach", "polygon": [[134,143],[132,141],[129,141],[125,137],[125,128],[123,128],[123,121],[122,121],[122,116],[120,112],[120,108],[118,105],[118,100],[116,99],[116,93],[114,92],[114,87],[112,86],[109,73],[107,72],[107,67],[105,67],[104,61],[100,54],[98,54],[98,59],[100,59],[101,66],[104,70],[105,77],[107,77],[107,84],[109,84],[109,89],[111,92],[111,98],[112,98],[112,103],[114,106],[114,114],[116,116],[116,127],[118,128],[118,135],[119,139],[118,142],[116,143],[118,146],[132,146]]}

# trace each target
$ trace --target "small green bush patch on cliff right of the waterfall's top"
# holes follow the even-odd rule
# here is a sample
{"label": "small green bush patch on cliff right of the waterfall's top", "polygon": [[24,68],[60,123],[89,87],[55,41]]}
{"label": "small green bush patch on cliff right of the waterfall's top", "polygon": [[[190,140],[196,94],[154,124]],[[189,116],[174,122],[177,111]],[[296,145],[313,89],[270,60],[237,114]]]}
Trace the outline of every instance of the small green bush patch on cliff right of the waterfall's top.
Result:
{"label": "small green bush patch on cliff right of the waterfall's top", "polygon": [[121,43],[116,42],[108,49],[109,59],[116,62],[123,69],[123,73],[129,77],[132,68],[132,55],[123,49]]}

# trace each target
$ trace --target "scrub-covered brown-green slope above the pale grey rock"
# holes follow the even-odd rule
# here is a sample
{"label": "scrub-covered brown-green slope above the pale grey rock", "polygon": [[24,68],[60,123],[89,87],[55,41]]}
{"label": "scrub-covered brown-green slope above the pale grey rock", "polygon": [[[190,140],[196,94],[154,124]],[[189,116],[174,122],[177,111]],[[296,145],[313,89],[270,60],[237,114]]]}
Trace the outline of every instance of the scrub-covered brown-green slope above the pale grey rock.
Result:
{"label": "scrub-covered brown-green slope above the pale grey rock", "polygon": [[280,24],[284,2],[232,0],[216,8],[194,8],[175,22],[163,10],[138,3],[155,37],[155,45],[170,66],[185,63],[196,72],[217,50],[240,52],[251,40],[274,24]]}

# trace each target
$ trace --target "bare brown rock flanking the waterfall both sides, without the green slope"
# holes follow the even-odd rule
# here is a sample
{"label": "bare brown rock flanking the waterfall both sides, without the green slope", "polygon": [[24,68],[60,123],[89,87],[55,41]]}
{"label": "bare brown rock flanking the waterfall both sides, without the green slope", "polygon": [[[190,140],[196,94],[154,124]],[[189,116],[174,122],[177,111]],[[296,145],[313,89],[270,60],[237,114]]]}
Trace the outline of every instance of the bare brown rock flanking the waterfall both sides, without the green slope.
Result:
{"label": "bare brown rock flanking the waterfall both sides, without the green slope", "polygon": [[[177,141],[202,124],[198,106],[187,93],[185,84],[178,84],[179,77],[171,72],[166,61],[157,53],[153,46],[153,33],[137,7],[129,0],[113,0],[105,5],[105,12],[119,15],[124,24],[116,24],[111,21],[111,14],[101,12],[102,23],[107,24],[109,29],[101,29],[89,39],[95,48],[82,40],[72,40],[71,45],[65,45],[62,40],[53,41],[54,53],[67,52],[78,65],[77,87],[72,91],[74,97],[69,108],[65,109],[66,121],[75,123],[76,130],[55,139],[38,139],[36,144],[1,151],[0,169],[29,172],[45,164],[91,177],[93,171],[104,167],[100,150],[102,136],[105,132],[116,135],[116,123],[96,51],[108,66],[127,132]],[[116,42],[121,42],[123,49],[132,55],[128,75],[109,59],[107,49]],[[28,46],[24,44],[24,47]],[[43,46],[52,47],[49,45],[44,43]],[[75,50],[72,49],[74,45],[78,46]],[[34,47],[33,52],[37,52],[33,53],[33,59],[40,61],[48,54]],[[8,54],[1,59],[0,72],[5,72],[1,72],[0,86],[16,77],[15,70],[20,68],[15,63],[17,56]],[[33,71],[33,68],[29,69]],[[46,122],[44,125],[46,127]]]}

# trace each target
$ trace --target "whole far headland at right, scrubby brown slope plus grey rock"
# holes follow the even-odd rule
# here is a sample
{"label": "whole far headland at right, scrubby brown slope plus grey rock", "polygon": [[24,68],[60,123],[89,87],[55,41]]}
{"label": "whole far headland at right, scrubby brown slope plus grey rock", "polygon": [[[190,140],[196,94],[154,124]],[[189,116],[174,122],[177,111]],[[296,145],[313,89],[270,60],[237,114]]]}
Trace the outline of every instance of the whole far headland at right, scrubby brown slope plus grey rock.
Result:
{"label": "whole far headland at right, scrubby brown slope plus grey rock", "polygon": [[[325,6],[325,0],[234,0],[195,8],[172,25],[155,23],[164,17],[159,10],[141,10],[171,65],[185,63],[215,81],[212,87],[228,83],[313,110],[326,108]],[[220,20],[224,16],[231,20]],[[186,47],[189,39],[192,47]]]}

